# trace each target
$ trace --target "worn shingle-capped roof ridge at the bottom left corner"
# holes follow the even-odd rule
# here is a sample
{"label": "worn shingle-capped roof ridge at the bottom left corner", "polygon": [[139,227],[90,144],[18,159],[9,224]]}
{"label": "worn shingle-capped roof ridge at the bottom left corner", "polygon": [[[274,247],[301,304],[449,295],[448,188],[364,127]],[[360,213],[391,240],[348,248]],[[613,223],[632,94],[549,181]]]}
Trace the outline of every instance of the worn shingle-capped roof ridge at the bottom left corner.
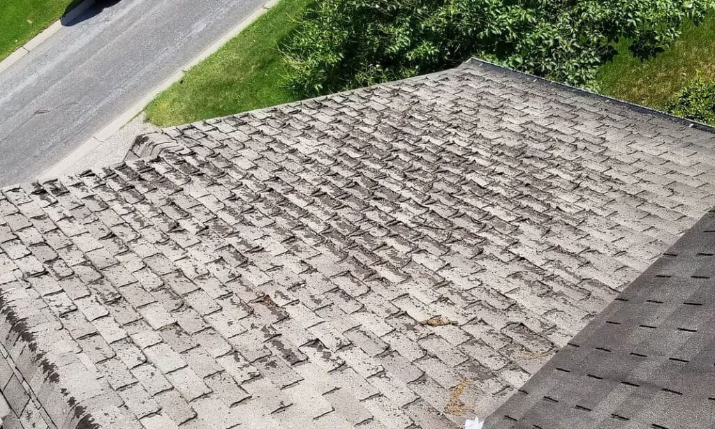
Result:
{"label": "worn shingle-capped roof ridge at the bottom left corner", "polygon": [[121,398],[88,368],[89,358],[82,362],[61,321],[21,281],[0,286],[0,343],[51,428],[132,428]]}

